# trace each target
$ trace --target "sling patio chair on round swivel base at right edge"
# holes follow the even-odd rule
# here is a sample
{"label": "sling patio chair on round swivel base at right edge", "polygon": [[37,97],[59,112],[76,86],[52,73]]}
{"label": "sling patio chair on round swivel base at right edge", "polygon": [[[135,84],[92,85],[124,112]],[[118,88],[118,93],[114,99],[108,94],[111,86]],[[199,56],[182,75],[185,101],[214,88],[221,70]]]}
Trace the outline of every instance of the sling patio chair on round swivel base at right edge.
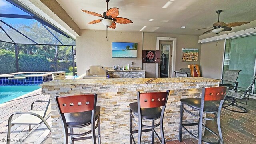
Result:
{"label": "sling patio chair on round swivel base at right edge", "polygon": [[[242,90],[234,90],[234,92],[228,91],[227,96],[226,96],[226,100],[228,101],[228,104],[223,104],[223,105],[227,105],[227,106],[223,106],[223,108],[225,108],[227,110],[230,110],[232,112],[240,112],[240,113],[248,112],[248,110],[246,108],[244,108],[242,106],[239,106],[237,104],[236,100],[241,100],[241,99],[245,98],[246,95],[247,95],[246,103],[245,103],[245,105],[247,105],[247,101],[249,99],[250,93],[252,92],[252,86],[253,86],[253,84],[255,82],[255,79],[256,79],[256,76],[254,76],[252,78],[252,82],[248,86],[248,88],[242,88],[242,89],[245,89],[244,91],[242,91]],[[234,88],[237,89],[237,88],[241,88],[241,87],[234,86]],[[231,102],[229,102],[230,100],[231,100]],[[227,108],[228,106],[236,106],[236,107],[238,107],[242,111],[231,110],[231,109]]]}

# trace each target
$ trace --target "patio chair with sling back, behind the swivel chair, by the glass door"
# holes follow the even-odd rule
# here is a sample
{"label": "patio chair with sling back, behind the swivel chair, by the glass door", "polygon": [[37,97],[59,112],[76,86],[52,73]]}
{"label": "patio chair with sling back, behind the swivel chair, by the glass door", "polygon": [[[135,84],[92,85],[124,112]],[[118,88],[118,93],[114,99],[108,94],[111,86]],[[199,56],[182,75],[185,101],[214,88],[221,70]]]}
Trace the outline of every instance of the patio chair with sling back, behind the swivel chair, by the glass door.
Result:
{"label": "patio chair with sling back, behind the swivel chair, by the glass door", "polygon": [[228,81],[234,82],[235,86],[236,86],[236,87],[230,86],[229,90],[232,90],[232,89],[237,90],[238,82],[236,80],[238,78],[239,72],[241,72],[241,70],[226,70],[225,71],[222,80],[228,80]]}

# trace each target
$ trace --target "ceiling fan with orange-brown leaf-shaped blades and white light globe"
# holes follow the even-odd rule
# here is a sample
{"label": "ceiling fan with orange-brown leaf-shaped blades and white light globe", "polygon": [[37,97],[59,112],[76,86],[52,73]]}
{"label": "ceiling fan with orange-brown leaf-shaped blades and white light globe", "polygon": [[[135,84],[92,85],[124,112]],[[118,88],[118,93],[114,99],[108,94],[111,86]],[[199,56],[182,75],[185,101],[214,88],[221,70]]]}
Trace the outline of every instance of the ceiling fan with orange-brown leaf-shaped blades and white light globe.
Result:
{"label": "ceiling fan with orange-brown leaf-shaped blades and white light globe", "polygon": [[98,14],[96,12],[90,12],[88,10],[82,10],[83,12],[87,13],[87,14],[91,14],[93,16],[98,16],[104,19],[98,19],[98,20],[93,20],[91,22],[89,22],[88,24],[96,24],[99,22],[102,22],[107,28],[112,28],[115,29],[116,28],[116,23],[119,24],[129,24],[132,23],[131,20],[129,20],[128,18],[122,18],[122,17],[117,17],[119,15],[119,8],[110,8],[108,9],[108,2],[109,0],[106,0],[107,2],[107,11],[103,12],[103,15]]}

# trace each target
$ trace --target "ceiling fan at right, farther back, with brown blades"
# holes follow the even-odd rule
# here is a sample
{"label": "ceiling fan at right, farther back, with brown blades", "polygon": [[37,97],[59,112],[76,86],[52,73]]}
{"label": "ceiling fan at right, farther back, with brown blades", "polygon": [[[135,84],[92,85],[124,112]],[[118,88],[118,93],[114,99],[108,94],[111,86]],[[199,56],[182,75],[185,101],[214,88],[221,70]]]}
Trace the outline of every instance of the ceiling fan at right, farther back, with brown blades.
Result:
{"label": "ceiling fan at right, farther back, with brown blades", "polygon": [[[220,12],[222,12],[222,10],[217,10],[216,13],[218,14],[218,21],[215,22],[213,24],[213,27],[210,27],[211,30],[207,30],[206,32],[204,32],[203,34],[206,34],[208,32],[214,32],[215,34],[218,34],[222,31],[231,31],[232,28],[234,26],[241,26],[243,24],[248,24],[250,22],[231,22],[226,24],[225,22],[220,22]],[[207,29],[207,28],[200,28],[200,29],[196,29],[196,30],[202,30],[202,29]]]}

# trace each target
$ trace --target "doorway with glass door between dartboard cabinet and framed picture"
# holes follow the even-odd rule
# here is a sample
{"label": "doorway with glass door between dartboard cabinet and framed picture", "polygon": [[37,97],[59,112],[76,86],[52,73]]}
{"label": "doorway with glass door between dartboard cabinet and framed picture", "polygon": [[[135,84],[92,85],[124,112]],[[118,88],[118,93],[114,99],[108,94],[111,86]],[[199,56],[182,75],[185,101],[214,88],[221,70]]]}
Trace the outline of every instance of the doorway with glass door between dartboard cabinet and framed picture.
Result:
{"label": "doorway with glass door between dartboard cabinet and framed picture", "polygon": [[161,52],[161,60],[159,63],[160,78],[167,78],[172,67],[172,41],[160,40],[159,48]]}

